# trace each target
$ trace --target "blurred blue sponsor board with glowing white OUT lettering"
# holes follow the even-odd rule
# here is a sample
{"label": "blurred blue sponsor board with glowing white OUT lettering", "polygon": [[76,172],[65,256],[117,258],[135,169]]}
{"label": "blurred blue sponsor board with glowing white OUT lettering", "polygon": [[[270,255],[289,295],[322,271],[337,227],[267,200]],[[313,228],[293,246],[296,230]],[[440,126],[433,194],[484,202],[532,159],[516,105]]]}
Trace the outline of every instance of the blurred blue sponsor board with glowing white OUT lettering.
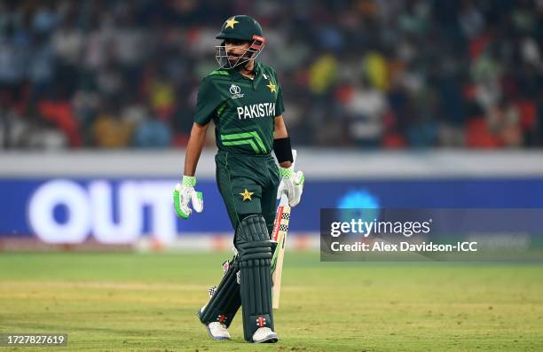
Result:
{"label": "blurred blue sponsor board with glowing white OUT lettering", "polygon": [[[306,182],[292,231],[318,232],[323,207],[543,207],[543,178],[319,180]],[[173,212],[173,179],[2,178],[0,236],[78,243],[94,236],[129,243],[142,234],[165,242],[194,232],[232,231],[213,180],[201,180],[204,211]]]}

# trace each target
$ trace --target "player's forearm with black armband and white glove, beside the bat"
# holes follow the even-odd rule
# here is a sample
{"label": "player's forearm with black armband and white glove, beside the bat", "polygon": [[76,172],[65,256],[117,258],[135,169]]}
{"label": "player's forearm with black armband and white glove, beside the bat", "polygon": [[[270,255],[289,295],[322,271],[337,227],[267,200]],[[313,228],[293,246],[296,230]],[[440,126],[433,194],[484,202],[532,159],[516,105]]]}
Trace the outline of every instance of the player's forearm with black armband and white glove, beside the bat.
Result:
{"label": "player's forearm with black armband and white glove, beside the bat", "polygon": [[290,145],[290,137],[288,137],[287,126],[285,126],[282,114],[276,116],[274,120],[273,151],[279,162],[279,174],[281,176],[277,199],[281,198],[282,193],[286,193],[288,204],[290,207],[295,207],[302,197],[305,177],[302,171],[295,172],[294,170],[292,146]]}

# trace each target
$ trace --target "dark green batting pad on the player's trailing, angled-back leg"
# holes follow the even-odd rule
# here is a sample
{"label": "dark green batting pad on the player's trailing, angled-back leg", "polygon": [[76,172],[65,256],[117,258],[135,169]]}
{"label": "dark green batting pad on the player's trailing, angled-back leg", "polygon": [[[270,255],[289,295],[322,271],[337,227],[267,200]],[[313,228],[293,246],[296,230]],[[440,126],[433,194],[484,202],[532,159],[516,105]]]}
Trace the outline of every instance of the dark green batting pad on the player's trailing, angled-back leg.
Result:
{"label": "dark green batting pad on the player's trailing, angled-back leg", "polygon": [[237,257],[229,262],[221,283],[216,287],[206,308],[199,313],[201,323],[209,325],[219,322],[226,327],[232,324],[233,317],[241,306],[240,285],[237,282],[238,265]]}

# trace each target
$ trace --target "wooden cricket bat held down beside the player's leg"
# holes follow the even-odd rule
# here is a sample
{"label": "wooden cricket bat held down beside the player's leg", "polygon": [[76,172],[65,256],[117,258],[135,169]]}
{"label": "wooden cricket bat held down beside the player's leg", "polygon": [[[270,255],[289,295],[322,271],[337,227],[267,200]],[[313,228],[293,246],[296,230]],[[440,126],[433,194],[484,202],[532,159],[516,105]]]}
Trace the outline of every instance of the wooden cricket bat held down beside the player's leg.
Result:
{"label": "wooden cricket bat held down beside the player's leg", "polygon": [[[292,151],[293,159],[296,160],[296,151]],[[293,162],[294,164],[294,162]],[[277,242],[275,252],[271,258],[271,308],[279,309],[279,295],[281,293],[281,274],[283,272],[283,259],[285,258],[285,242],[287,240],[288,222],[290,221],[290,206],[285,193],[281,194],[279,207],[273,223],[271,239]]]}

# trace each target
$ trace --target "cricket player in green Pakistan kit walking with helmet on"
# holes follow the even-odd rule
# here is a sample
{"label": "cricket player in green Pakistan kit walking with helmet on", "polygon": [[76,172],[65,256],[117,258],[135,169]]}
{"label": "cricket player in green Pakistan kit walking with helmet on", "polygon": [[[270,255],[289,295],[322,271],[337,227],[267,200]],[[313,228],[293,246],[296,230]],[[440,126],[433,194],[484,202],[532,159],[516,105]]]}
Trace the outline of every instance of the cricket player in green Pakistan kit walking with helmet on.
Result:
{"label": "cricket player in green Pakistan kit walking with helmet on", "polygon": [[295,172],[292,164],[277,74],[255,60],[265,45],[262,28],[249,16],[233,16],[216,39],[222,42],[216,46],[219,68],[201,81],[185,173],[174,190],[174,204],[177,215],[185,219],[192,210],[203,210],[194,173],[209,122],[214,121],[216,184],[232,222],[237,254],[224,263],[224,277],[198,316],[211,338],[228,340],[227,328],[243,306],[245,340],[277,342],[270,270],[275,246],[270,234],[276,198],[285,192],[295,207],[303,192],[303,173]]}

